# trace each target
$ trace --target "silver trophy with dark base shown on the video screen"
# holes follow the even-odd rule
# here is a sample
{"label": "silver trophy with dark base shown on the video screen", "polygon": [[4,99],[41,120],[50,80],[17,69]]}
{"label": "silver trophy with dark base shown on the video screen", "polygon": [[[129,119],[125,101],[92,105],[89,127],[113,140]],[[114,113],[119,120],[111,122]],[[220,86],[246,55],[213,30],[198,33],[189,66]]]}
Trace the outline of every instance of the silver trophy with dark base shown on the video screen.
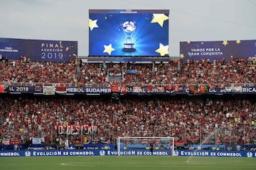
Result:
{"label": "silver trophy with dark base shown on the video screen", "polygon": [[126,35],[126,40],[124,43],[123,51],[124,52],[134,52],[136,49],[134,47],[134,43],[132,42],[132,35],[135,32],[136,26],[132,21],[126,21],[122,24],[122,29],[124,30],[124,34]]}

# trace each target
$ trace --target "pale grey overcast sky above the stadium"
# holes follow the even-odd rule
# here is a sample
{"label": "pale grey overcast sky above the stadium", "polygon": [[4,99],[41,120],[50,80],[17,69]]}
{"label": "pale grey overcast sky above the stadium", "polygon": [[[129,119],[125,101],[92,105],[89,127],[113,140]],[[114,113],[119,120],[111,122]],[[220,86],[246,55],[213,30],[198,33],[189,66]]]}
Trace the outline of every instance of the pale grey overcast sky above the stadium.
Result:
{"label": "pale grey overcast sky above the stadium", "polygon": [[256,40],[256,0],[0,0],[0,38],[75,40],[87,56],[89,9],[168,9],[171,57],[181,41]]}

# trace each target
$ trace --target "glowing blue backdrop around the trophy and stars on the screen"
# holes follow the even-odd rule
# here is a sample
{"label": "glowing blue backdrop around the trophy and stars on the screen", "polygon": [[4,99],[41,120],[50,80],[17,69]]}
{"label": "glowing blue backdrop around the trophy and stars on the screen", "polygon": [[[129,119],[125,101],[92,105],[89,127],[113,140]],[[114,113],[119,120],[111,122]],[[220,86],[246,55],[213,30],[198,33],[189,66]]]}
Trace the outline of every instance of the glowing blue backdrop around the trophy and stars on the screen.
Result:
{"label": "glowing blue backdrop around the trophy and stars on the screen", "polygon": [[[169,16],[169,13],[165,13]],[[92,21],[97,20],[98,28],[89,29],[89,55],[110,56],[104,52],[104,45],[112,44],[114,50],[111,56],[160,56],[159,43],[169,45],[169,21],[164,21],[163,27],[159,23],[151,23],[153,13],[89,13]],[[132,36],[136,51],[124,52],[122,48],[126,35],[122,30],[122,23],[132,21],[136,30]],[[167,56],[167,55],[166,55]]]}

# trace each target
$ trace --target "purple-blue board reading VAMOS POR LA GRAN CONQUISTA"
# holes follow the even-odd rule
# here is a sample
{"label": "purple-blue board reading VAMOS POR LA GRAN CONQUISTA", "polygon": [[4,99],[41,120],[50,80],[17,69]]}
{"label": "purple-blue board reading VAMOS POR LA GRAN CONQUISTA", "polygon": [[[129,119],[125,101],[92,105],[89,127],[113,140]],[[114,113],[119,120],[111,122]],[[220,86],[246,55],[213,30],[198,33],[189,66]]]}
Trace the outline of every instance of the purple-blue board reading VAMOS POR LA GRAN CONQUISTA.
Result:
{"label": "purple-blue board reading VAMOS POR LA GRAN CONQUISTA", "polygon": [[230,61],[232,57],[256,57],[256,40],[180,42],[183,61],[210,59]]}

